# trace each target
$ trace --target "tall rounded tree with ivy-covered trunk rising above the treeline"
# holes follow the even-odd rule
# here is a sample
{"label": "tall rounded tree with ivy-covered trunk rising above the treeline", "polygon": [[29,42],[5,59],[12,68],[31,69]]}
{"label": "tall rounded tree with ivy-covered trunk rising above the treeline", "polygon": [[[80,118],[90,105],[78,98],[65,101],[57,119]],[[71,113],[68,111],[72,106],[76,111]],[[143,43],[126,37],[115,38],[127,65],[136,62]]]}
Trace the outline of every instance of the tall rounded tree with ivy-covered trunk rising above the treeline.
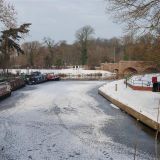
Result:
{"label": "tall rounded tree with ivy-covered trunk rising above the treeline", "polygon": [[76,32],[76,38],[81,49],[81,63],[87,64],[88,60],[88,41],[92,38],[94,29],[91,26],[84,26]]}

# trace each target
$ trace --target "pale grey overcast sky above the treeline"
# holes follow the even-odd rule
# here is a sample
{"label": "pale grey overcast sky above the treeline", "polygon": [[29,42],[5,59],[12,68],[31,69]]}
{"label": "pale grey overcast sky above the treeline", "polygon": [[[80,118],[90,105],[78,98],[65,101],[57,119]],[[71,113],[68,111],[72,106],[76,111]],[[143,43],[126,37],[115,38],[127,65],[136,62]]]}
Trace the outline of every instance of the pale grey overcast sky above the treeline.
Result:
{"label": "pale grey overcast sky above the treeline", "polygon": [[104,0],[9,0],[18,12],[18,23],[32,23],[26,40],[50,37],[72,43],[75,32],[84,25],[95,29],[95,37],[122,35],[121,26],[105,13]]}

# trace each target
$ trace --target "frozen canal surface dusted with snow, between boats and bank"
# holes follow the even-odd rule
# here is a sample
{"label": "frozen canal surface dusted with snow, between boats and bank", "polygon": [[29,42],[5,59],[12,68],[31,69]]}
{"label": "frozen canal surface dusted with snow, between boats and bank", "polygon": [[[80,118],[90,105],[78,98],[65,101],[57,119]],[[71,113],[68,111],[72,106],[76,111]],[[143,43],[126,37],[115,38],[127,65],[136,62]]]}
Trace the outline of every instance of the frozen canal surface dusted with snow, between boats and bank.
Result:
{"label": "frozen canal surface dusted with snow, between boats and bank", "polygon": [[135,145],[153,160],[154,133],[98,95],[102,84],[49,82],[0,102],[0,160],[132,160]]}

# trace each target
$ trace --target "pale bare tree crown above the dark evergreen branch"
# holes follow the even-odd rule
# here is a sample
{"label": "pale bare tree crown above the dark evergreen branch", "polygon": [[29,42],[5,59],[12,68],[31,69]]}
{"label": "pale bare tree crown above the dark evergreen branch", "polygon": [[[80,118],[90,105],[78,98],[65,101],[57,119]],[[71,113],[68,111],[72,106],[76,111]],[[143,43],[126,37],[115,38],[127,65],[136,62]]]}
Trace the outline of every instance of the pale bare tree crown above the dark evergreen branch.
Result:
{"label": "pale bare tree crown above the dark evergreen branch", "polygon": [[16,23],[16,11],[14,6],[5,0],[0,0],[0,22],[7,28],[14,27]]}

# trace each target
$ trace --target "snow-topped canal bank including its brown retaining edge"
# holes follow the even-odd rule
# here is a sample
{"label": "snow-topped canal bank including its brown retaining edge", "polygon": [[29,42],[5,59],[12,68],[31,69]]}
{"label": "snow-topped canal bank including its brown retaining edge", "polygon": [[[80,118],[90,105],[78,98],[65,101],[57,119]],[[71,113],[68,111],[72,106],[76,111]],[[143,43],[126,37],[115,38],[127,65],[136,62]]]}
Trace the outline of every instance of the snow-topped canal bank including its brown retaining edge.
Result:
{"label": "snow-topped canal bank including its brown retaining edge", "polygon": [[160,131],[158,117],[158,93],[133,91],[126,87],[124,80],[110,82],[98,90],[99,94],[154,130]]}

